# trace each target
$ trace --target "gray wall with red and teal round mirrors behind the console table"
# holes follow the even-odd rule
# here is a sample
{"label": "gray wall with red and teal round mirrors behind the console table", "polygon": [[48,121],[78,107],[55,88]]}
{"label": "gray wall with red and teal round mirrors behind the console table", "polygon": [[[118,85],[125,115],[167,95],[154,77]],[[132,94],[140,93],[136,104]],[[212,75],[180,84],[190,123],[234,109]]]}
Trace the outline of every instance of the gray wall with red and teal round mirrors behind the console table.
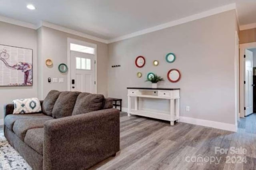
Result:
{"label": "gray wall with red and teal round mirrors behind the console table", "polygon": [[[108,96],[123,99],[127,107],[126,87],[150,87],[145,82],[149,72],[157,73],[165,81],[158,87],[180,87],[180,114],[223,123],[235,124],[235,10],[202,18],[108,45]],[[165,55],[176,54],[174,63],[167,63]],[[137,68],[135,58],[142,55],[146,65]],[[153,60],[159,60],[155,67]],[[121,67],[112,68],[111,65]],[[168,81],[168,70],[179,69],[178,83]],[[142,78],[136,73],[142,72]],[[166,111],[164,102],[147,101],[150,110]],[[144,105],[144,106],[145,106]],[[190,111],[185,111],[186,106]],[[144,107],[141,105],[140,107]]]}

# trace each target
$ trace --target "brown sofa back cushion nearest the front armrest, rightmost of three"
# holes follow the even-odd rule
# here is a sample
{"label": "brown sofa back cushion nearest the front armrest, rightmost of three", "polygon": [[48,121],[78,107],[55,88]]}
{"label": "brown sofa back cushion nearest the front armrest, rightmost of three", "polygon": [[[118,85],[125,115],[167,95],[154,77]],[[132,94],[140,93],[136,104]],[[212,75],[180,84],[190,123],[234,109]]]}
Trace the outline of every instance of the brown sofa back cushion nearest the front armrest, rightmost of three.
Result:
{"label": "brown sofa back cushion nearest the front armrest, rightmost of three", "polygon": [[77,97],[72,115],[98,111],[102,109],[103,101],[103,95],[80,93],[80,95]]}

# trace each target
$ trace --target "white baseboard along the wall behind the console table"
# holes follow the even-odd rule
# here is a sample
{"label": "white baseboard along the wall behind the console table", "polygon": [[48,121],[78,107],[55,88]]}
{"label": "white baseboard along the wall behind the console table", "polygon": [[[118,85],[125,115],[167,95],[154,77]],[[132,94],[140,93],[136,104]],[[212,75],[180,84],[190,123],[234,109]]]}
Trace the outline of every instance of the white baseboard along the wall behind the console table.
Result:
{"label": "white baseboard along the wall behind the console table", "polygon": [[[123,112],[127,112],[128,108],[122,107]],[[194,125],[200,125],[204,127],[211,127],[211,128],[218,128],[222,130],[228,131],[237,131],[237,125],[229,124],[229,123],[222,123],[222,122],[215,122],[215,121],[208,121],[204,119],[196,119],[191,117],[180,117],[180,122],[190,123]]]}

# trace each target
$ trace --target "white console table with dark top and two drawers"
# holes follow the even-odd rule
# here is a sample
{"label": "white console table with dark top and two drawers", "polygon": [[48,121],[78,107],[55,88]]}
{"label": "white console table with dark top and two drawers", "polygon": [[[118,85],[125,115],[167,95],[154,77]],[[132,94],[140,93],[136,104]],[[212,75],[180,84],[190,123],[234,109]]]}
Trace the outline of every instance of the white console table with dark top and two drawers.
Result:
{"label": "white console table with dark top and two drawers", "polygon": [[[180,119],[180,89],[166,88],[143,88],[143,87],[127,87],[128,89],[128,116],[139,115],[154,119],[170,121],[174,125],[174,121],[179,122]],[[131,97],[135,98],[135,108],[131,109]],[[170,113],[160,113],[152,111],[143,111],[138,109],[138,97],[168,99],[170,100]]]}

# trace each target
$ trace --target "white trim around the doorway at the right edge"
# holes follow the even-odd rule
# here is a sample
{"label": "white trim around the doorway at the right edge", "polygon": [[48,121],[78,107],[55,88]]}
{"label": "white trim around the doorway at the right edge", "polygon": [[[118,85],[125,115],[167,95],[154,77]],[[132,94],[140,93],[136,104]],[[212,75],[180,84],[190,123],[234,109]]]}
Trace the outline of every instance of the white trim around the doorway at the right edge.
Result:
{"label": "white trim around the doorway at the right edge", "polygon": [[240,117],[244,117],[244,50],[256,48],[256,42],[242,43],[240,47]]}

